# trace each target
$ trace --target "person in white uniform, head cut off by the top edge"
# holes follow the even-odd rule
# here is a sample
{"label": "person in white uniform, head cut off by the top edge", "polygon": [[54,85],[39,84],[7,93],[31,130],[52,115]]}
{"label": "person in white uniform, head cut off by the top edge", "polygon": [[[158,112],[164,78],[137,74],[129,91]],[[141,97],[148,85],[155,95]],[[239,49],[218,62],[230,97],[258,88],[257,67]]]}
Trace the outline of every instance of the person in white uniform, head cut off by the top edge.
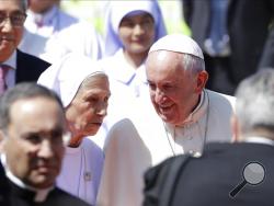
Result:
{"label": "person in white uniform, head cut off by the top edge", "polygon": [[50,64],[68,53],[98,60],[102,39],[94,26],[61,11],[59,0],[30,0],[20,48]]}

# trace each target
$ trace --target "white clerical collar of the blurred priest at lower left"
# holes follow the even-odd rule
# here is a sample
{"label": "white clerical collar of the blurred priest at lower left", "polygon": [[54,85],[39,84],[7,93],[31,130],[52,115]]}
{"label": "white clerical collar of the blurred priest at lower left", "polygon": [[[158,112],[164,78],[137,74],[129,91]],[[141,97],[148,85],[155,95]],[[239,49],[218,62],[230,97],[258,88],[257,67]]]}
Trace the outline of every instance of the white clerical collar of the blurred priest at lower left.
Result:
{"label": "white clerical collar of the blurred priest at lower left", "polygon": [[26,188],[30,191],[35,192],[35,197],[34,197],[34,202],[36,203],[42,203],[47,198],[47,195],[49,194],[50,191],[54,190],[54,186],[50,186],[48,188],[43,188],[43,190],[38,190],[38,188],[34,188],[33,186],[26,185],[25,183],[23,183],[19,178],[16,178],[14,174],[12,174],[12,172],[9,170],[9,167],[5,163],[5,154],[1,153],[0,156],[2,165],[4,168],[4,172],[7,178],[13,182],[15,185],[18,185],[21,188]]}

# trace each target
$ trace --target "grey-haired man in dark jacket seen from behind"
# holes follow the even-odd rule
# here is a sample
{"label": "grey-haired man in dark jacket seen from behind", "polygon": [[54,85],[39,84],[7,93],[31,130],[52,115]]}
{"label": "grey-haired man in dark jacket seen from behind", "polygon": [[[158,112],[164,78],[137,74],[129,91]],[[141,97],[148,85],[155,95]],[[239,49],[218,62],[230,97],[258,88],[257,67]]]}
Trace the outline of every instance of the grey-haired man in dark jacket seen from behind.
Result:
{"label": "grey-haired man in dark jacket seen from behind", "polygon": [[[236,142],[209,144],[202,158],[175,157],[148,171],[145,206],[274,204],[274,70],[246,79],[236,94],[231,121]],[[172,168],[178,161],[181,169],[171,195],[162,198],[159,191],[170,184],[162,176],[175,175]],[[156,186],[160,180],[161,188]],[[232,192],[242,182],[247,184],[239,193]]]}

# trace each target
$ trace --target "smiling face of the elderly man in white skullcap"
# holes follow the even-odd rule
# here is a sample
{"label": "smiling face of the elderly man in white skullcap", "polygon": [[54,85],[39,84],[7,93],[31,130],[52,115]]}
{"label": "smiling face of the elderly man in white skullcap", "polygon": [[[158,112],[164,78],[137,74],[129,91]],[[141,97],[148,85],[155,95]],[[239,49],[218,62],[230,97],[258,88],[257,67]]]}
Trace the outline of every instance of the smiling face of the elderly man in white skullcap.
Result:
{"label": "smiling face of the elderly man in white skullcap", "polygon": [[182,125],[198,103],[207,76],[182,66],[182,55],[167,50],[149,54],[146,69],[151,102],[165,123]]}

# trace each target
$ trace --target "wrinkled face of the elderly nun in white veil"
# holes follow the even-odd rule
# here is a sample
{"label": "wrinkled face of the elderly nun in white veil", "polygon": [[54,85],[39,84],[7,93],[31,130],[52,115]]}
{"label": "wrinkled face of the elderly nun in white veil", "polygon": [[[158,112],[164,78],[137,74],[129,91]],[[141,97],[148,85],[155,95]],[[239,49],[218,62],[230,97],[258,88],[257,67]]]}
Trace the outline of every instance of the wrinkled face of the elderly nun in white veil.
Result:
{"label": "wrinkled face of the elderly nun in white veil", "polygon": [[110,93],[106,76],[95,75],[84,80],[66,110],[72,138],[96,134],[106,115]]}

